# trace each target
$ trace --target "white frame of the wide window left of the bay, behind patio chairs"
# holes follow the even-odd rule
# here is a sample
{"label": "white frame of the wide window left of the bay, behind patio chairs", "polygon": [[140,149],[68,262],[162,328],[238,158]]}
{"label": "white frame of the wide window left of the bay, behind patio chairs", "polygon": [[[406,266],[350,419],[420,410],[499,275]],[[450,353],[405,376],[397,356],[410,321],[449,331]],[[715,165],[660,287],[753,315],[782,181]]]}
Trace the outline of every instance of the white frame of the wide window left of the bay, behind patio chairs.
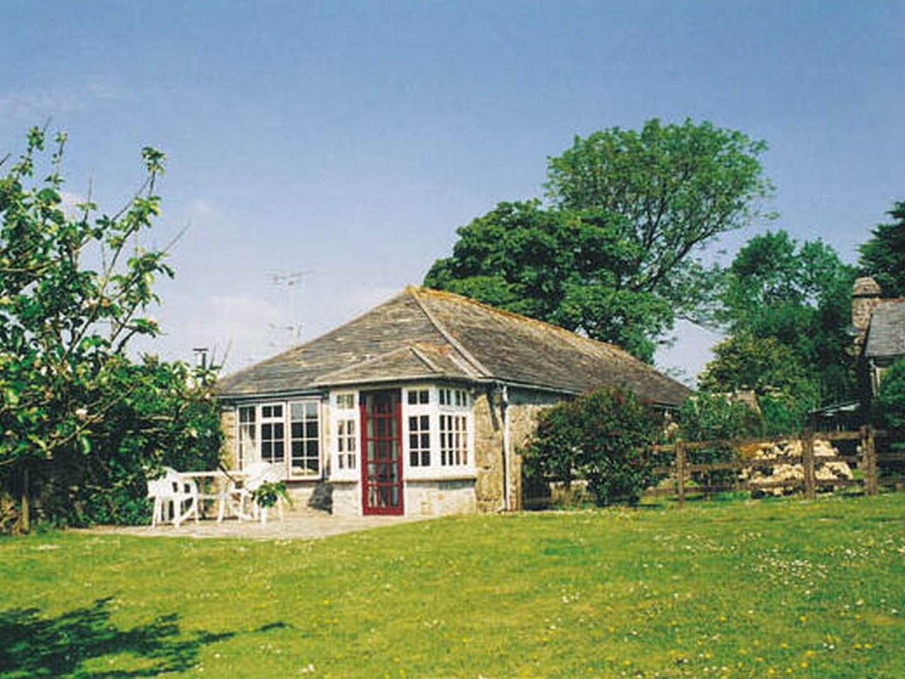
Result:
{"label": "white frame of the wide window left of the bay, behind patio chairs", "polygon": [[[308,436],[307,432],[302,432],[301,437],[293,437],[292,432],[292,406],[293,404],[313,404],[315,406],[315,422],[317,424],[317,435]],[[281,408],[281,416],[268,417],[263,416],[265,409]],[[252,413],[252,418],[243,420],[243,411]],[[303,481],[306,479],[321,479],[324,477],[324,426],[323,426],[323,408],[321,407],[319,398],[294,398],[289,401],[260,401],[255,403],[245,403],[236,406],[236,444],[235,444],[235,460],[239,469],[246,468],[249,464],[255,462],[271,462],[271,459],[262,458],[262,427],[263,426],[282,426],[282,456],[278,464],[283,470],[284,478],[289,481]],[[318,470],[316,472],[305,469],[295,469],[293,467],[292,444],[300,442],[302,445],[317,445],[317,461]],[[279,455],[276,455],[279,457]]]}

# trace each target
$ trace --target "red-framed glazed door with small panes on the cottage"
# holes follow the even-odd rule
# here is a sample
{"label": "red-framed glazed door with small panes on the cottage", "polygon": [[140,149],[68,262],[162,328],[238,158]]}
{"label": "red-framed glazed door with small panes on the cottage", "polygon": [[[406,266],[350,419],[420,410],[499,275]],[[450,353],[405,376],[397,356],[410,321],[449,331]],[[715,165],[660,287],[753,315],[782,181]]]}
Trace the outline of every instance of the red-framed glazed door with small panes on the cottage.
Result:
{"label": "red-framed glazed door with small panes on the cottage", "polygon": [[402,514],[402,399],[398,389],[361,394],[362,512]]}

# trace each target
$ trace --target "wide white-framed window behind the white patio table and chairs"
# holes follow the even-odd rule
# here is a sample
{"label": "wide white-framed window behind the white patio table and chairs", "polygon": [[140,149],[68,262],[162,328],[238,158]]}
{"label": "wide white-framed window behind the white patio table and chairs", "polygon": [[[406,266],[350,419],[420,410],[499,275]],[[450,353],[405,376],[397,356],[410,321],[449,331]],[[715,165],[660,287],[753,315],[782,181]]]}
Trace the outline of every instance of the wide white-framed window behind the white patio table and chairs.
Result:
{"label": "wide white-framed window behind the white patio table and chairs", "polygon": [[319,477],[320,404],[315,399],[239,406],[236,463],[281,466],[286,478]]}

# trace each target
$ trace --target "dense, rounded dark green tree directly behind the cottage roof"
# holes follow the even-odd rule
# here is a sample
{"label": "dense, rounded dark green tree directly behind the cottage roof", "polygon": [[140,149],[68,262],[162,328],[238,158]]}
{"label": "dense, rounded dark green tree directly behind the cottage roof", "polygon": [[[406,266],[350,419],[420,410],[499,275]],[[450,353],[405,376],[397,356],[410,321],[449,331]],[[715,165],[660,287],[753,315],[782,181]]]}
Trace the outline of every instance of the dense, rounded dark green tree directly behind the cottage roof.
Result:
{"label": "dense, rounded dark green tree directly behind the cottage roof", "polygon": [[427,274],[429,287],[614,342],[642,359],[672,323],[668,301],[634,284],[633,244],[618,215],[500,203],[459,229],[452,257]]}

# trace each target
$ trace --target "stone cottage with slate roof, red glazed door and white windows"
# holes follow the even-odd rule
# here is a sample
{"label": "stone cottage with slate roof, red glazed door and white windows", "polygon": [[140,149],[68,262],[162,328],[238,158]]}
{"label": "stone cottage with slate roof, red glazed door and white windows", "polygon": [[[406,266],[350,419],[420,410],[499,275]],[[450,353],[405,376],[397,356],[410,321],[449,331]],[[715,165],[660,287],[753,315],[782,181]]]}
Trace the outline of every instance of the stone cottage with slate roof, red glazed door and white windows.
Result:
{"label": "stone cottage with slate roof, red glazed door and white windows", "polygon": [[433,515],[518,508],[538,410],[605,385],[689,394],[613,345],[408,287],[218,390],[236,468],[281,465],[298,501],[326,488],[337,514]]}

